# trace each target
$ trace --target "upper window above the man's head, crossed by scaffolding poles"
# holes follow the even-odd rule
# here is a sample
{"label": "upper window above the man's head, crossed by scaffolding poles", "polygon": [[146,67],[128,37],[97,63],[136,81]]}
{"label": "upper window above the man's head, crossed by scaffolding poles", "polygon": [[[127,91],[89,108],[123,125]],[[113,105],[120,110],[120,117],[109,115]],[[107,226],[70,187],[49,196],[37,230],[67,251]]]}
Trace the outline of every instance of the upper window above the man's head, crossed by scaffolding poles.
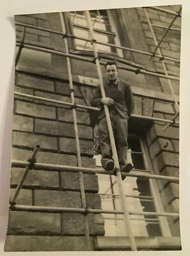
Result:
{"label": "upper window above the man's head, crossed by scaffolding poles", "polygon": [[[95,39],[98,42],[120,45],[116,29],[111,18],[109,10],[92,10],[90,11],[91,22],[95,33]],[[70,12],[70,20],[74,36],[80,36],[90,40],[88,24],[84,12]],[[122,52],[109,45],[97,44],[99,52],[107,52],[122,57]],[[75,48],[81,51],[92,51],[91,42],[75,39]]]}

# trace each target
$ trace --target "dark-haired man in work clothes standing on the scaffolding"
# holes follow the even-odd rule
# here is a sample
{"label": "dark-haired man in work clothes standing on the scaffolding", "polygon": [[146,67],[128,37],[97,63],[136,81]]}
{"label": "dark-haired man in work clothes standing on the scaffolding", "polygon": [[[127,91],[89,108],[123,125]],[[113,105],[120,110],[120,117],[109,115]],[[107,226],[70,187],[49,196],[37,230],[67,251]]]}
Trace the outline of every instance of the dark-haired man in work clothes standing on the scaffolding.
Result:
{"label": "dark-haired man in work clothes standing on the scaffolding", "polygon": [[91,106],[100,107],[98,127],[102,167],[105,170],[113,170],[116,175],[104,104],[109,109],[120,169],[122,172],[130,172],[132,164],[127,163],[127,137],[128,119],[134,110],[134,99],[131,86],[118,79],[116,62],[108,61],[105,68],[107,79],[104,80],[104,90],[106,97],[102,98],[100,86],[97,86],[97,90],[91,100]]}

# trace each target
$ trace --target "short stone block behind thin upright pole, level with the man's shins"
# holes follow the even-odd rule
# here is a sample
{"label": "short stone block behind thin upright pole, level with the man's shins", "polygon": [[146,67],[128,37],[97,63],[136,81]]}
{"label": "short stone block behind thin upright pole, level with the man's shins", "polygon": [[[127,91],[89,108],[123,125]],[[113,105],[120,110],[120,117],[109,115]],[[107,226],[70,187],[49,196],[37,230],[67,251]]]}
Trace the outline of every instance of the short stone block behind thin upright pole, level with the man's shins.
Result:
{"label": "short stone block behind thin upright pole, level with the man's shins", "polygon": [[[92,154],[92,141],[79,140],[81,154]],[[77,152],[75,139],[59,138],[60,152]]]}

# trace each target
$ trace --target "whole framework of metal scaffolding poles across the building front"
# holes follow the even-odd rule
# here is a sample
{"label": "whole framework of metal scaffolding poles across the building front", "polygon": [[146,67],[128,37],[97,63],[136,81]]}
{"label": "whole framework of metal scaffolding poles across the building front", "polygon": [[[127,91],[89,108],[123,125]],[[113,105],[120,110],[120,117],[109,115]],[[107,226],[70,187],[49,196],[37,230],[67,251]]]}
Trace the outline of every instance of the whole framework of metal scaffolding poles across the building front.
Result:
{"label": "whole framework of metal scaffolding poles across the building front", "polygon": [[[147,7],[148,8],[148,7]],[[168,28],[166,28],[166,31],[164,33],[164,36],[166,36],[166,33],[168,33],[168,31],[171,28],[173,22],[175,22],[175,19],[177,19],[177,17],[180,17],[180,12],[181,12],[181,8],[179,10],[179,12],[175,13],[175,12],[170,12],[168,10],[164,10],[161,8],[157,8],[157,7],[149,7],[149,8],[153,8],[154,10],[158,10],[159,12],[166,12],[166,13],[170,13],[171,15],[175,15],[174,19],[172,20],[170,26]],[[89,232],[89,223],[88,223],[88,219],[87,216],[90,213],[107,213],[107,214],[122,214],[123,215],[123,220],[125,223],[125,230],[129,236],[129,241],[131,244],[131,250],[132,251],[136,251],[138,250],[137,246],[136,246],[136,241],[134,239],[134,236],[132,234],[132,229],[131,229],[131,220],[132,218],[130,218],[131,215],[139,215],[139,216],[159,216],[161,218],[164,218],[166,216],[172,216],[172,217],[178,217],[179,214],[178,213],[171,213],[171,212],[163,212],[163,211],[156,211],[156,212],[138,212],[138,211],[128,211],[126,204],[125,204],[125,197],[126,195],[124,195],[123,192],[123,184],[122,184],[122,176],[128,176],[128,177],[142,177],[143,179],[150,179],[150,180],[168,180],[170,182],[173,183],[179,183],[179,179],[177,177],[167,177],[167,176],[163,176],[163,175],[153,175],[147,172],[138,172],[139,170],[132,170],[130,173],[122,173],[120,170],[120,166],[118,163],[118,156],[117,156],[117,152],[116,152],[116,145],[115,145],[115,138],[113,136],[113,130],[111,127],[111,120],[110,120],[110,116],[109,116],[109,110],[107,108],[106,105],[104,105],[104,110],[106,113],[106,120],[107,120],[107,127],[109,129],[109,136],[110,136],[110,141],[111,141],[111,149],[113,152],[113,159],[115,161],[115,167],[116,167],[116,179],[118,182],[118,189],[119,189],[119,195],[118,198],[120,198],[120,205],[122,208],[122,211],[106,211],[106,210],[102,210],[102,209],[88,209],[88,207],[86,206],[86,198],[85,198],[85,192],[84,192],[84,180],[83,180],[83,173],[102,173],[105,175],[114,175],[113,172],[108,172],[106,170],[103,169],[95,169],[95,168],[83,168],[82,164],[81,164],[81,152],[80,152],[80,145],[79,145],[79,133],[78,133],[78,128],[77,128],[77,116],[76,116],[76,109],[77,108],[82,108],[82,109],[88,109],[88,110],[95,110],[95,111],[99,111],[98,108],[92,108],[90,106],[83,106],[80,104],[76,104],[75,103],[75,96],[74,96],[74,86],[73,86],[73,81],[72,81],[72,70],[71,70],[71,65],[70,65],[70,59],[74,58],[75,60],[82,60],[82,61],[87,61],[90,63],[95,63],[96,67],[97,67],[97,73],[99,75],[99,81],[100,81],[100,89],[101,89],[101,93],[102,93],[102,97],[105,97],[105,92],[104,92],[104,84],[103,84],[103,79],[102,79],[102,72],[100,69],[100,65],[104,65],[105,61],[100,61],[99,58],[99,52],[97,49],[97,44],[102,44],[102,45],[108,45],[111,47],[115,47],[118,49],[124,49],[127,51],[131,51],[131,52],[137,52],[139,54],[144,54],[146,56],[150,56],[150,58],[159,58],[159,60],[162,62],[162,67],[164,69],[164,74],[158,73],[158,72],[152,72],[150,70],[145,70],[145,68],[140,67],[139,65],[137,65],[136,63],[132,63],[132,61],[126,61],[123,60],[122,63],[127,64],[128,66],[131,66],[132,68],[129,67],[125,67],[125,66],[121,66],[119,65],[118,68],[122,69],[122,70],[128,70],[131,72],[134,72],[135,74],[145,74],[145,75],[150,75],[150,76],[155,76],[155,77],[162,77],[165,79],[168,79],[168,85],[170,87],[171,90],[171,94],[173,96],[173,100],[175,102],[175,109],[176,109],[176,113],[173,117],[173,120],[166,120],[166,119],[161,119],[161,118],[153,118],[150,116],[139,116],[139,115],[132,115],[134,117],[137,118],[143,118],[146,120],[152,120],[152,121],[159,121],[159,122],[163,122],[165,124],[167,124],[164,129],[163,132],[166,131],[166,129],[168,129],[168,127],[170,125],[179,125],[179,122],[177,122],[175,119],[177,118],[177,116],[179,115],[179,107],[178,107],[178,101],[175,97],[175,93],[173,92],[173,87],[171,84],[171,80],[173,81],[179,81],[179,77],[177,76],[169,76],[167,69],[166,69],[166,64],[164,63],[164,60],[174,60],[174,61],[180,61],[177,60],[175,58],[169,58],[166,56],[162,56],[162,52],[161,49],[159,48],[159,46],[162,43],[162,40],[164,39],[164,36],[162,36],[161,41],[158,43],[157,39],[155,37],[154,34],[154,25],[151,24],[150,19],[148,17],[148,13],[146,12],[146,8],[144,8],[145,10],[145,15],[146,15],[146,19],[148,22],[148,26],[150,27],[150,31],[152,33],[152,36],[154,38],[154,42],[155,42],[155,50],[153,53],[150,52],[143,52],[143,51],[138,51],[136,49],[129,49],[127,47],[119,47],[113,44],[106,44],[104,42],[99,42],[95,39],[95,34],[93,31],[93,26],[91,23],[91,17],[90,17],[90,12],[89,11],[85,11],[85,17],[87,20],[87,24],[88,24],[88,29],[89,29],[89,33],[90,33],[90,39],[86,39],[83,37],[79,37],[79,36],[73,36],[73,35],[69,35],[65,29],[65,23],[64,23],[64,13],[59,13],[60,15],[60,19],[61,19],[61,28],[62,28],[62,32],[59,31],[53,31],[51,29],[45,29],[45,28],[39,28],[36,26],[31,26],[28,24],[23,24],[23,23],[19,23],[16,22],[17,25],[19,26],[24,26],[24,33],[22,36],[22,40],[19,42],[17,41],[16,45],[19,46],[19,52],[17,54],[16,57],[16,65],[19,61],[20,58],[20,54],[22,49],[25,47],[27,49],[34,49],[37,51],[42,51],[42,52],[50,52],[50,53],[54,53],[54,54],[58,54],[59,56],[65,56],[67,58],[67,70],[68,70],[68,80],[69,80],[69,85],[70,85],[70,96],[71,96],[71,103],[68,102],[63,102],[63,101],[59,101],[59,100],[52,100],[52,99],[47,99],[44,97],[37,97],[37,96],[33,96],[33,95],[27,95],[25,93],[19,93],[19,92],[15,92],[14,95],[17,96],[22,96],[25,97],[26,99],[36,99],[36,100],[42,100],[45,102],[49,102],[49,106],[55,106],[55,104],[58,104],[60,107],[63,106],[70,106],[72,108],[72,114],[73,114],[73,118],[74,118],[74,131],[75,131],[75,143],[76,143],[76,149],[77,149],[77,167],[75,166],[63,166],[63,165],[58,165],[58,164],[44,164],[44,163],[36,163],[36,154],[38,153],[38,150],[40,149],[40,145],[36,145],[33,154],[31,156],[30,159],[28,159],[28,161],[16,161],[16,160],[12,160],[12,168],[14,167],[19,167],[19,168],[25,168],[24,173],[22,174],[22,177],[19,181],[19,184],[17,185],[17,189],[15,190],[14,195],[12,196],[12,199],[10,200],[10,209],[12,211],[31,211],[31,212],[52,212],[52,213],[62,213],[62,212],[78,212],[83,214],[84,217],[84,230],[85,230],[85,236],[86,236],[86,244],[88,245],[88,250],[91,250],[91,243],[90,243],[90,232]],[[158,26],[157,26],[158,27]],[[161,26],[159,26],[161,27]],[[54,49],[48,49],[47,47],[41,47],[41,46],[35,46],[32,44],[26,44],[24,42],[24,38],[26,35],[26,28],[35,28],[35,29],[39,29],[41,31],[49,31],[51,33],[55,33],[57,35],[61,35],[63,36],[63,40],[65,42],[65,52],[61,52],[61,51],[56,51]],[[78,56],[77,53],[70,53],[69,48],[68,48],[68,38],[78,38],[80,40],[85,40],[86,42],[91,42],[91,45],[93,47],[93,59],[91,58],[84,58],[82,56]],[[158,52],[158,54],[156,54],[155,52]],[[57,172],[61,172],[61,171],[65,171],[65,172],[78,172],[79,173],[79,181],[80,181],[80,189],[81,189],[81,200],[82,200],[82,208],[66,208],[66,207],[41,207],[41,206],[28,206],[28,205],[17,205],[16,201],[17,201],[17,196],[19,195],[19,191],[20,189],[22,189],[22,186],[24,184],[24,180],[26,179],[29,170],[52,170],[52,171],[57,171]],[[106,194],[107,195],[107,194]],[[143,196],[142,198],[143,200],[150,200],[150,196]],[[159,209],[159,207],[155,207],[156,209]],[[148,219],[149,220],[149,219]],[[150,223],[152,223],[151,221],[153,220],[149,220]],[[166,234],[166,232],[164,233]]]}

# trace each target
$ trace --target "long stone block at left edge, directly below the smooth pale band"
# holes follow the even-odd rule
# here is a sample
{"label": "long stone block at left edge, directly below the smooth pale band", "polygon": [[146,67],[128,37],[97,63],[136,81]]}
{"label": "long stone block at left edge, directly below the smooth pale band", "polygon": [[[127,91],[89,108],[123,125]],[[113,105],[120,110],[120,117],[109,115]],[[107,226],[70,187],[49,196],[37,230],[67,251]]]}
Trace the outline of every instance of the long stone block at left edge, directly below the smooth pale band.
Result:
{"label": "long stone block at left edge, directly below the smooth pale band", "polygon": [[21,74],[17,74],[17,85],[54,92],[54,82]]}

